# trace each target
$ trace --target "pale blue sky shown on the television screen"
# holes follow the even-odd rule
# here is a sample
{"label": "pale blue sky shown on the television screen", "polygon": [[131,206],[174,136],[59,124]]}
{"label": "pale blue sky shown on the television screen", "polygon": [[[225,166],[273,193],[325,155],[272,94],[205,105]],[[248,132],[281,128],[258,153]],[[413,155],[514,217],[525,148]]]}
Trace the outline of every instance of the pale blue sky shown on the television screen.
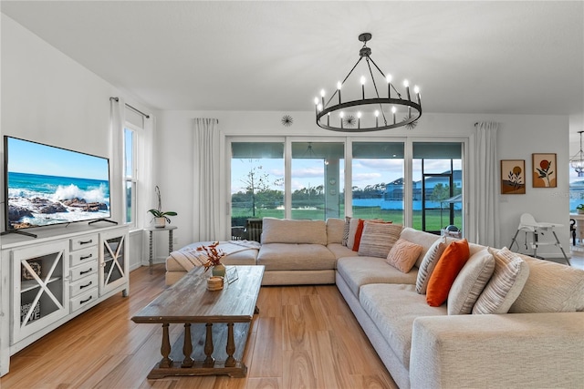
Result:
{"label": "pale blue sky shown on the television screen", "polygon": [[18,138],[8,142],[8,171],[78,179],[108,180],[108,159]]}

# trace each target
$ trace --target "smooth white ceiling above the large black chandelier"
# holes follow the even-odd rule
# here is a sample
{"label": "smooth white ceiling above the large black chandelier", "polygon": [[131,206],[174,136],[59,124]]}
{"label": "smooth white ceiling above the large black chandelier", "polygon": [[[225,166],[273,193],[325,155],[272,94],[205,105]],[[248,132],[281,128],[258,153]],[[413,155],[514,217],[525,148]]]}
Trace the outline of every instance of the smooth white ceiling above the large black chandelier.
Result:
{"label": "smooth white ceiling above the large black chandelier", "polygon": [[[5,15],[153,108],[312,110],[358,59],[425,112],[582,122],[584,3],[2,1]],[[573,120],[570,120],[570,124]],[[582,128],[584,129],[584,128]]]}

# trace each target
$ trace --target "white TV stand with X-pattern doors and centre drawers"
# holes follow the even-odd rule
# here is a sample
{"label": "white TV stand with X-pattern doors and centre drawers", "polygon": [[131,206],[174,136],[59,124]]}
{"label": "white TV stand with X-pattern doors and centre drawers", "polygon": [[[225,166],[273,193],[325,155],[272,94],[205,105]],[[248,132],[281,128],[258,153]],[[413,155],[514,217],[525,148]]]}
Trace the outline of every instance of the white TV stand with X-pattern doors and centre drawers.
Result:
{"label": "white TV stand with X-pattern doors and centre drawers", "polygon": [[10,355],[99,302],[130,292],[128,228],[73,223],[0,241],[0,376]]}

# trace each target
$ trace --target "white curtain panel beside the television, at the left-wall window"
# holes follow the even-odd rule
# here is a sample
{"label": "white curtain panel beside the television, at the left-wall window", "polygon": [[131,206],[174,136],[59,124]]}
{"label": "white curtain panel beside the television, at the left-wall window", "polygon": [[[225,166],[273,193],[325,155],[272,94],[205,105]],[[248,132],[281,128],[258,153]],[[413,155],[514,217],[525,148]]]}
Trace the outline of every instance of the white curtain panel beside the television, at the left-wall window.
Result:
{"label": "white curtain panel beside the television, at the left-wall window", "polygon": [[126,190],[122,187],[124,169],[124,123],[126,104],[121,97],[110,98],[110,207],[111,219],[123,223]]}

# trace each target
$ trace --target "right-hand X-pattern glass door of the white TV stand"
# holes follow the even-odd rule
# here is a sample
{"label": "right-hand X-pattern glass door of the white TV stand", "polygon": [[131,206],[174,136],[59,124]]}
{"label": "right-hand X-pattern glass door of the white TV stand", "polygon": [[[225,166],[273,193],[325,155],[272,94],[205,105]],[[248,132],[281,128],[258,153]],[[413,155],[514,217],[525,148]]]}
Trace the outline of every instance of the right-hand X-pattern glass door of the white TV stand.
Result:
{"label": "right-hand X-pattern glass door of the white TV stand", "polygon": [[[119,230],[99,234],[99,296],[116,290],[128,283],[128,234]],[[128,295],[128,289],[123,295]]]}

